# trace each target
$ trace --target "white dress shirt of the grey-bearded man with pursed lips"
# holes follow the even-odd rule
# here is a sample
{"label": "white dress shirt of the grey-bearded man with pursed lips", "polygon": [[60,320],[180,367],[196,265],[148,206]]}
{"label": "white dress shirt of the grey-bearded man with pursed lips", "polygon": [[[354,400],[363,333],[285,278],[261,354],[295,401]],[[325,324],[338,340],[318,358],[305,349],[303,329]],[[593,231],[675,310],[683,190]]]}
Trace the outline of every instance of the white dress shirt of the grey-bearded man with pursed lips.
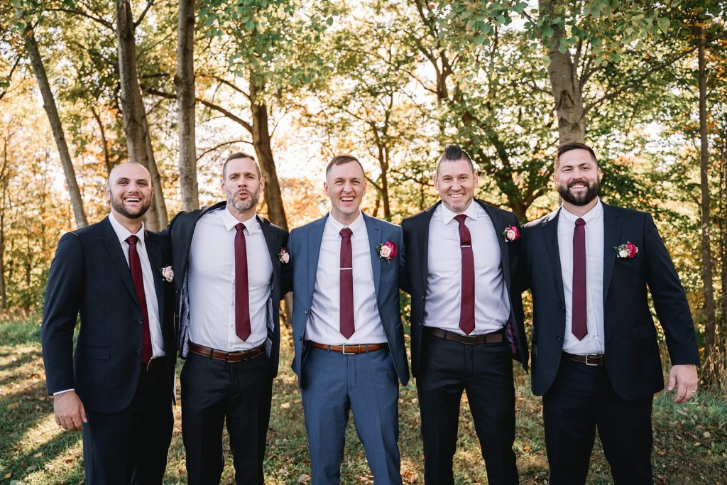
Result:
{"label": "white dress shirt of the grey-bearded man with pursed lips", "polygon": [[268,300],[273,262],[257,215],[245,225],[250,329],[247,340],[235,331],[235,236],[237,220],[226,207],[197,221],[189,252],[190,340],[226,352],[249,350],[268,335]]}

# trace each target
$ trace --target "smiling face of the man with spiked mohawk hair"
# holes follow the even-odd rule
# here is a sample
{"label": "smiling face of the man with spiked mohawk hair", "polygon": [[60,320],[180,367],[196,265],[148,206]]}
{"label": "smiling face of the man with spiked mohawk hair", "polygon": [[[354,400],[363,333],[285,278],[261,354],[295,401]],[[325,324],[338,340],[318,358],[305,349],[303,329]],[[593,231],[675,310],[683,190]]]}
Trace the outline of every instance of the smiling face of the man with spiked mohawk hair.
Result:
{"label": "smiling face of the man with spiked mohawk hair", "polygon": [[434,175],[434,188],[442,204],[455,214],[462,214],[470,207],[478,182],[477,172],[462,159],[442,161]]}

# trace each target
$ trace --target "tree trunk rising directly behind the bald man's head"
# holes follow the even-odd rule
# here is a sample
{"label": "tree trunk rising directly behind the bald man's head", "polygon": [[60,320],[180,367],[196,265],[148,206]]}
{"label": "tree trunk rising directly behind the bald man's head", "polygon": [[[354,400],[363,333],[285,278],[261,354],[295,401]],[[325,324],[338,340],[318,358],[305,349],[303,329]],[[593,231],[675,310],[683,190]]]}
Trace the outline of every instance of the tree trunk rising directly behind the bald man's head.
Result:
{"label": "tree trunk rising directly behind the bald man's head", "polygon": [[[147,228],[151,231],[160,230],[162,215],[158,204],[164,205],[164,193],[159,184],[158,170],[153,159],[149,159],[151,140],[148,140],[148,129],[145,127],[145,111],[139,87],[136,62],[136,41],[134,39],[134,19],[129,0],[116,0],[116,44],[119,52],[119,84],[121,87],[121,110],[124,112],[124,133],[129,160],[142,164],[152,174],[154,198],[157,199],[149,207],[145,216]],[[152,164],[154,166],[152,167]],[[153,171],[157,174],[155,183]],[[166,219],[166,213],[163,215]]]}

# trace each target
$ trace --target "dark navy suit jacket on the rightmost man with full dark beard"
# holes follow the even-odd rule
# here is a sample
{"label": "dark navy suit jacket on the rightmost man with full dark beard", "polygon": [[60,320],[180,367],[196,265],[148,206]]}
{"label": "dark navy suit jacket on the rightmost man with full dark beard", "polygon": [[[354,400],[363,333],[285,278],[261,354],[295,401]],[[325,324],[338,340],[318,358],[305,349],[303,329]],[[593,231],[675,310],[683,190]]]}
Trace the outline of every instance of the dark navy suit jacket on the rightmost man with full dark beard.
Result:
{"label": "dark navy suit jacket on the rightmost man with full dark beard", "polygon": [[[532,388],[537,396],[547,392],[558,374],[566,332],[558,214],[523,227],[523,286],[533,294]],[[603,236],[606,371],[622,398],[651,396],[664,388],[664,377],[647,286],[672,364],[699,364],[686,294],[651,215],[603,204]],[[617,258],[614,247],[627,241],[638,253]]]}

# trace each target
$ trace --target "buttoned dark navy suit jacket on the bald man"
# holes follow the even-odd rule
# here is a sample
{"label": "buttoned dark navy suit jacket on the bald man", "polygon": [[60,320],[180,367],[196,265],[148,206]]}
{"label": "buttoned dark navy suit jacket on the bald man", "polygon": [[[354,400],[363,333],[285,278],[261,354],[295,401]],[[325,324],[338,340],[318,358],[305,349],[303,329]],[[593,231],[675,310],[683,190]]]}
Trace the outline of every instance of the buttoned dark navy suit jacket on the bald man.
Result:
{"label": "buttoned dark navy suit jacket on the bald man", "polygon": [[[160,269],[172,264],[172,253],[156,233],[146,231],[144,240],[155,286],[145,292],[156,292],[171,403],[177,354],[174,290]],[[108,217],[65,233],[50,267],[41,327],[48,393],[73,388],[88,411],[125,409],[139,382],[141,341],[142,314],[132,273]]]}

